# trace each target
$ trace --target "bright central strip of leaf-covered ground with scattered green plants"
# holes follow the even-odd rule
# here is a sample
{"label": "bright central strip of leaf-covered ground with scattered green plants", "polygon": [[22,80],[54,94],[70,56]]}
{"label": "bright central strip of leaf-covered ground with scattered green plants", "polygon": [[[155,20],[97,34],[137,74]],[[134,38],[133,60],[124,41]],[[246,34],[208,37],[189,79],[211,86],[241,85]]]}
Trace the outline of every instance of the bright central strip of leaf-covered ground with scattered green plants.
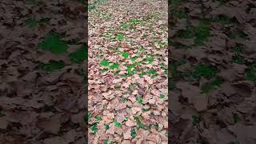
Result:
{"label": "bright central strip of leaf-covered ground with scattered green plants", "polygon": [[89,143],[167,143],[167,1],[89,13]]}

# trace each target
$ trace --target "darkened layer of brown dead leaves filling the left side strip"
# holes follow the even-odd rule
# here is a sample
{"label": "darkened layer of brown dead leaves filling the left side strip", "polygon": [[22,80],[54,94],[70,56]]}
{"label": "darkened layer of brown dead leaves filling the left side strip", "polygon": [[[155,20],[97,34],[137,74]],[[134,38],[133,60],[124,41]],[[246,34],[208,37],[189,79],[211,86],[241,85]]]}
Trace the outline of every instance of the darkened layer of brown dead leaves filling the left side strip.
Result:
{"label": "darkened layer of brown dead leaves filling the left side strip", "polygon": [[[30,18],[50,22],[28,26]],[[78,75],[83,66],[71,65],[65,54],[37,50],[50,31],[77,39],[77,45],[86,42],[83,5],[2,0],[0,19],[0,143],[84,142],[86,86]],[[38,69],[39,62],[50,60],[62,60],[66,66],[50,74]]]}

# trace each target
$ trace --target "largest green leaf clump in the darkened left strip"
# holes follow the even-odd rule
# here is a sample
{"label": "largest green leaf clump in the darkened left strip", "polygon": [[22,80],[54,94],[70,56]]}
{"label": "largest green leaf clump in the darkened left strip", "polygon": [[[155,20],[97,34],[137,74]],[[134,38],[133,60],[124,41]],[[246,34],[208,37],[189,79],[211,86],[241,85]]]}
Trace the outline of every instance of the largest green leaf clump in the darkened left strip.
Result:
{"label": "largest green leaf clump in the darkened left strip", "polygon": [[53,54],[62,54],[66,52],[68,46],[61,40],[62,36],[56,33],[47,34],[46,37],[38,44],[42,50],[50,51]]}

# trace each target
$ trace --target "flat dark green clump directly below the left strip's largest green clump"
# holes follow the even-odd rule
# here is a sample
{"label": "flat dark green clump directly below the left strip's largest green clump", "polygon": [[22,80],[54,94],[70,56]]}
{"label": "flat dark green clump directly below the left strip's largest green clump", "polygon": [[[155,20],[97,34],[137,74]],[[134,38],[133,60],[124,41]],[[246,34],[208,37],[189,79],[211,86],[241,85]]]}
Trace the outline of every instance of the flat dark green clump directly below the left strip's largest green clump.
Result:
{"label": "flat dark green clump directly below the left strip's largest green clump", "polygon": [[46,70],[46,72],[53,72],[55,70],[60,70],[65,66],[65,63],[63,61],[53,61],[50,60],[49,63],[39,63],[38,68],[42,70]]}

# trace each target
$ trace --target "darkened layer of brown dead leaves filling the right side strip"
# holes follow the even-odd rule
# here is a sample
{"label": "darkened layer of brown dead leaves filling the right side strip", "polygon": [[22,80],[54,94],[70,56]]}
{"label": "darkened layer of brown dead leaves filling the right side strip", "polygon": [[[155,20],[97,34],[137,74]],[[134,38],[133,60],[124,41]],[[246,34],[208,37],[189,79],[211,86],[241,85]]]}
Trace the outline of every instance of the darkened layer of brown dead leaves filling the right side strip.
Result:
{"label": "darkened layer of brown dead leaves filling the right side strip", "polygon": [[[255,6],[250,0],[186,1],[178,9],[170,3],[171,143],[255,143],[255,71],[250,69],[256,50]],[[187,15],[175,14],[175,9]],[[210,22],[210,37],[202,46],[186,49],[194,39],[178,38],[178,31],[198,26],[203,18],[217,18]],[[178,49],[174,42],[185,48]],[[178,64],[181,60],[186,64]],[[217,67],[222,80],[207,94],[201,88],[209,79],[178,76],[198,64]]]}

